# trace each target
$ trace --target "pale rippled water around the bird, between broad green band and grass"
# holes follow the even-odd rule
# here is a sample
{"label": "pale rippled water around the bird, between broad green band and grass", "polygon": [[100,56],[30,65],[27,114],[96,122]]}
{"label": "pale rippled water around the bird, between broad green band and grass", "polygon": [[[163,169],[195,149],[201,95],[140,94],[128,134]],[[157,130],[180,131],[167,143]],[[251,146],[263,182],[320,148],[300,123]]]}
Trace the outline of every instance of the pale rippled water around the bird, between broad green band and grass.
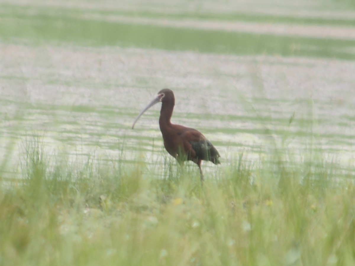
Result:
{"label": "pale rippled water around the bird, between broad green band and grass", "polygon": [[[21,140],[32,134],[72,158],[93,151],[119,158],[123,149],[127,161],[141,152],[148,163],[163,163],[159,106],[135,130],[130,126],[147,99],[168,86],[176,96],[173,123],[201,131],[224,158],[242,149],[253,159],[287,146],[295,158],[312,148],[344,165],[353,163],[351,62],[123,48],[48,47],[45,53],[15,44],[0,48],[6,51],[1,159],[15,141],[12,166]],[[173,63],[167,69],[168,61]]]}

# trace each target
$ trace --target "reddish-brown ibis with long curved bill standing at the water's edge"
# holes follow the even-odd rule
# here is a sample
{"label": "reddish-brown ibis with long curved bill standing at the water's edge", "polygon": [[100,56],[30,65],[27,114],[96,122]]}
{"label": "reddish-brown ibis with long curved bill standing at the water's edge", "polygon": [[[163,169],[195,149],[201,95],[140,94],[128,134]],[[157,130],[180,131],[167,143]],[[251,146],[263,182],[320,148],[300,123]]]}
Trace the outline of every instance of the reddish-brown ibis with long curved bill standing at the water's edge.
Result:
{"label": "reddish-brown ibis with long curved bill standing at the water's edge", "polygon": [[175,105],[175,97],[171,89],[162,89],[158,92],[158,96],[137,116],[136,120],[133,122],[132,129],[141,115],[159,102],[162,102],[159,126],[160,131],[162,131],[166,151],[168,151],[180,165],[182,165],[184,161],[196,163],[198,168],[200,168],[202,182],[203,173],[201,161],[211,161],[214,164],[219,164],[218,158],[220,155],[201,132],[189,127],[171,124],[170,118]]}

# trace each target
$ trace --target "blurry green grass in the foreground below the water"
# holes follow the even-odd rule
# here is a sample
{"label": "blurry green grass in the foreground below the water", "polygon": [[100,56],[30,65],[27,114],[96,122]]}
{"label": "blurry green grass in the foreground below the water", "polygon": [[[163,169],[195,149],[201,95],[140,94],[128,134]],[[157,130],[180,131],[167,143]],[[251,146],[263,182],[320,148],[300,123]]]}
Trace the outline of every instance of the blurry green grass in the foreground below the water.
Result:
{"label": "blurry green grass in the foreground below the water", "polygon": [[94,162],[28,145],[23,181],[1,185],[1,265],[354,265],[355,186],[330,163],[240,154],[201,187],[173,161],[165,179]]}

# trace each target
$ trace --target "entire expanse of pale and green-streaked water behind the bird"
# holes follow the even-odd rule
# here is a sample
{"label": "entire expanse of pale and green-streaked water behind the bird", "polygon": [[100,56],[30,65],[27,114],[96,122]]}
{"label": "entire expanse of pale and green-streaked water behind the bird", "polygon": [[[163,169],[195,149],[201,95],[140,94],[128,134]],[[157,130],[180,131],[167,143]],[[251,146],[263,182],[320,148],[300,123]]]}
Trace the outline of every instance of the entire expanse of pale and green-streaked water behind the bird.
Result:
{"label": "entire expanse of pale and green-streaked water behind the bird", "polygon": [[[49,154],[163,163],[156,93],[222,162],[310,151],[354,163],[355,7],[339,1],[2,1],[0,162]],[[331,160],[333,160],[331,159]],[[207,169],[213,165],[205,163]]]}

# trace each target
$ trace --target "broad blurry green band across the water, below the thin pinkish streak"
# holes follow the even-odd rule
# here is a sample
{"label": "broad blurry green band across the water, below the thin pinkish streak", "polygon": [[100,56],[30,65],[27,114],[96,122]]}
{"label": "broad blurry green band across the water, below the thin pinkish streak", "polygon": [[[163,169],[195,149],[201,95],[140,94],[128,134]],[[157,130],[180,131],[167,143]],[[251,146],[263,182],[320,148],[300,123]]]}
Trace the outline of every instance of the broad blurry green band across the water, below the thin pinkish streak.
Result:
{"label": "broad blurry green band across the water, below the thin pinkish streak", "polygon": [[[31,7],[27,8],[31,11]],[[17,6],[7,8],[8,13],[5,12],[6,16],[0,24],[1,41],[26,40],[35,45],[61,43],[86,47],[120,46],[237,55],[267,54],[344,60],[355,58],[351,52],[354,40],[144,25],[95,20],[68,15],[68,12],[53,15],[51,13],[57,12],[56,8],[52,8],[51,12],[46,10],[23,13]],[[263,21],[268,22],[267,19]],[[332,25],[333,20],[328,22]],[[337,25],[337,21],[334,25]]]}

